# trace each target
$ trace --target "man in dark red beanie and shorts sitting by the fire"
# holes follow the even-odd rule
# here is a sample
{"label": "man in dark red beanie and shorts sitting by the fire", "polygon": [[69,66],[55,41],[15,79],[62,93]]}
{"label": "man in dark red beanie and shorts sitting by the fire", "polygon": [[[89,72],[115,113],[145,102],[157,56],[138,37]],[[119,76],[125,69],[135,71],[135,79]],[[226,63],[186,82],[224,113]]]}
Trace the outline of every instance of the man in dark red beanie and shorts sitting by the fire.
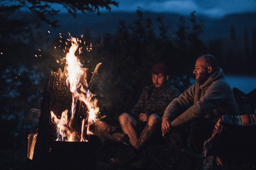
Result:
{"label": "man in dark red beanie and shorts sitting by the fire", "polygon": [[152,139],[164,139],[161,131],[164,110],[180,92],[167,82],[169,75],[165,64],[155,64],[151,74],[153,84],[143,89],[131,113],[119,116],[119,123],[123,132],[128,134],[132,149],[120,157],[111,158],[114,166],[129,165],[138,160],[135,158]]}

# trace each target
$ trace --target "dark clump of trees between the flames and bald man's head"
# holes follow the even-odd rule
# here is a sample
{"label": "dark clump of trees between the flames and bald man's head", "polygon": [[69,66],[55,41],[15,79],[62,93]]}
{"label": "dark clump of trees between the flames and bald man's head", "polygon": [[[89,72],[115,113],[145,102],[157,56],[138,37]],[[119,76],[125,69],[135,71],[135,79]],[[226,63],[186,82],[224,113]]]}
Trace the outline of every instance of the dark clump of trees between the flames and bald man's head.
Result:
{"label": "dark clump of trees between the flames and bald man's head", "polygon": [[[137,14],[138,20],[133,24],[119,21],[114,36],[97,37],[98,44],[94,45],[97,49],[94,49],[93,62],[103,63],[95,90],[110,104],[101,102],[103,108],[114,112],[115,116],[130,112],[142,88],[151,83],[150,70],[156,62],[166,63],[171,73],[170,81],[185,90],[190,86],[196,57],[206,53],[199,39],[203,28],[195,13],[191,13],[191,27],[188,28],[181,18],[180,28],[174,35],[166,29],[161,17],[153,21],[143,18],[139,10]],[[153,29],[153,22],[158,23],[159,30]]]}

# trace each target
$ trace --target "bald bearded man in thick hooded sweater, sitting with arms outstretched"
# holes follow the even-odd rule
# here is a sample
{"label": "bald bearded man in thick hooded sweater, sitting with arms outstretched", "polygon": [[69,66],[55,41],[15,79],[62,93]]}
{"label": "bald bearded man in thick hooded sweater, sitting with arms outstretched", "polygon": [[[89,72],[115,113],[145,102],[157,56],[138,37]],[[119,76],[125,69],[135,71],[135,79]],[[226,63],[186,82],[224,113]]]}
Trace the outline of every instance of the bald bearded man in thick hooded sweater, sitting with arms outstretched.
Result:
{"label": "bald bearded man in thick hooded sweater, sitting with arms outstretched", "polygon": [[197,161],[184,150],[202,155],[203,144],[220,116],[239,113],[233,91],[214,56],[199,57],[193,73],[196,83],[174,99],[163,116],[163,136],[170,138],[178,156],[177,169],[195,169]]}

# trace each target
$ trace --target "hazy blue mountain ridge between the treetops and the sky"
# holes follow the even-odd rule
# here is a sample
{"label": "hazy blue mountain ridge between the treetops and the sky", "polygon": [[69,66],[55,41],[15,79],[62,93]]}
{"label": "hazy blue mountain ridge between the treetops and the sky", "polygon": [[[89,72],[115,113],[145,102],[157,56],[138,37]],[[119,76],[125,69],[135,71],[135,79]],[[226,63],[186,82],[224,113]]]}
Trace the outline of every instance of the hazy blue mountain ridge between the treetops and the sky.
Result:
{"label": "hazy blue mountain ridge between the treetops and the sky", "polygon": [[[163,21],[171,33],[177,31],[182,15],[172,13],[143,13],[144,19],[151,18],[153,20],[155,31],[157,31],[156,19],[159,16],[163,17]],[[189,16],[184,17],[186,24],[191,26]],[[256,13],[232,14],[223,18],[207,18],[206,16],[196,14],[196,17],[198,21],[202,20],[201,23],[204,25],[204,35],[202,35],[204,41],[229,38],[231,27],[234,27],[237,38],[242,38],[244,29],[248,30],[249,37],[252,31],[256,30]],[[56,19],[59,20],[61,27],[56,29],[51,28],[52,34],[58,35],[61,32],[67,35],[70,32],[71,35],[77,36],[89,31],[91,35],[105,35],[106,33],[115,33],[120,20],[126,21],[126,26],[128,27],[128,24],[138,20],[138,16],[136,13],[110,12],[102,13],[100,16],[97,14],[78,14],[76,19],[70,14],[59,14]]]}

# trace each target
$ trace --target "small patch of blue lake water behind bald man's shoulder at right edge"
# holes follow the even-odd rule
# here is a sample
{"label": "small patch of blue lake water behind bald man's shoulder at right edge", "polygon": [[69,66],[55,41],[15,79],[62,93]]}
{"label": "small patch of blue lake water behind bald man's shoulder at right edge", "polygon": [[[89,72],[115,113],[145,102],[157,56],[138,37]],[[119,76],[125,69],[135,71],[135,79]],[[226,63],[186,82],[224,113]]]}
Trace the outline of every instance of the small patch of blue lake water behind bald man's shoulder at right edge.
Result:
{"label": "small patch of blue lake water behind bald man's shoulder at right edge", "polygon": [[256,89],[256,77],[225,75],[225,79],[230,84],[231,88],[236,87],[246,94]]}

